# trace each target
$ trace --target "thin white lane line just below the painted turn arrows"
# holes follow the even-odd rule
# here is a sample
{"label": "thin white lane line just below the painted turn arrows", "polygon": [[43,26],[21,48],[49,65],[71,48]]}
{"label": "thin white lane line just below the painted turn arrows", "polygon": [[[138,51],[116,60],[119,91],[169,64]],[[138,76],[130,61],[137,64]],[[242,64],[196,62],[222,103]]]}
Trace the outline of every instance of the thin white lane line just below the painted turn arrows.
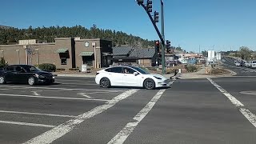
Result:
{"label": "thin white lane line just below the painted turn arrows", "polygon": [[65,97],[45,97],[45,96],[37,96],[37,95],[21,95],[21,94],[0,94],[2,96],[10,96],[10,97],[27,97],[27,98],[52,98],[52,99],[69,99],[69,100],[86,100],[86,101],[102,101],[108,102],[106,99],[90,99],[90,98],[65,98]]}

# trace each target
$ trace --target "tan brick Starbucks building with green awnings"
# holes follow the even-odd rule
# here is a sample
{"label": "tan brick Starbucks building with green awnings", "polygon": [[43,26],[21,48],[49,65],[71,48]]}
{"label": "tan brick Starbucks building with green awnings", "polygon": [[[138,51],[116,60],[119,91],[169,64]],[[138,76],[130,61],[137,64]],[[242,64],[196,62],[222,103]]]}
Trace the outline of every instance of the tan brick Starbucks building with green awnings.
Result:
{"label": "tan brick Starbucks building with green awnings", "polygon": [[52,43],[21,40],[17,45],[0,45],[0,58],[8,64],[54,64],[57,68],[93,68],[110,66],[112,42],[100,38],[55,38]]}

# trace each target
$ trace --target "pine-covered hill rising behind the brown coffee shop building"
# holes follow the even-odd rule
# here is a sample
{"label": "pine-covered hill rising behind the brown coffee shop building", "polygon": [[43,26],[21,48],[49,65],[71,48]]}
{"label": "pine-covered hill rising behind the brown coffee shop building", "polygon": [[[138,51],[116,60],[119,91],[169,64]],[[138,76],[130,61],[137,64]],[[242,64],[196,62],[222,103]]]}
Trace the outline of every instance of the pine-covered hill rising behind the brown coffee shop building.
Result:
{"label": "pine-covered hill rising behind the brown coffee shop building", "polygon": [[87,29],[83,26],[30,26],[27,29],[18,29],[10,26],[0,26],[0,45],[10,45],[22,39],[38,39],[45,42],[54,42],[54,38],[80,37],[80,38],[102,38],[113,42],[113,46],[136,46],[153,47],[154,41],[143,39],[122,31],[103,30],[96,25]]}

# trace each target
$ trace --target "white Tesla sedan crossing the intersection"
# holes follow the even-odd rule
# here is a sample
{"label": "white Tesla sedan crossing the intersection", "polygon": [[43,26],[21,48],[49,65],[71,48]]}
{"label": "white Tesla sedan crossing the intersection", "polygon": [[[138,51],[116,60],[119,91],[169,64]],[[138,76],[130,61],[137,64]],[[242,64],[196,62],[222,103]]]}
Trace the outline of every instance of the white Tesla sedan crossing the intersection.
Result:
{"label": "white Tesla sedan crossing the intersection", "polygon": [[102,87],[136,86],[148,90],[170,86],[170,79],[160,74],[150,74],[137,66],[112,66],[99,70],[95,82]]}

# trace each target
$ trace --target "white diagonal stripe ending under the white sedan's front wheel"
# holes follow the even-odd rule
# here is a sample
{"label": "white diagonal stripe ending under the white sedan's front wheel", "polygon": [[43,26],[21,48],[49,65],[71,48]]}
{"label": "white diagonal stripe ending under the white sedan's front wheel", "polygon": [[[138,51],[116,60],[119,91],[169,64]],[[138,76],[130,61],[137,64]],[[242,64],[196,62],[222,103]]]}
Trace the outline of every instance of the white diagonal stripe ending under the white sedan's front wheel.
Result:
{"label": "white diagonal stripe ending under the white sedan's front wheel", "polygon": [[108,144],[122,144],[126,141],[126,138],[129,137],[129,135],[133,132],[136,126],[138,126],[138,123],[142,121],[143,118],[146,117],[146,114],[150,112],[150,110],[154,107],[155,103],[158,102],[158,99],[161,98],[162,94],[166,90],[159,90],[157,94],[154,95],[154,97],[150,100],[149,103],[133,118],[136,122],[129,122],[126,124],[126,126],[114,137],[108,142]]}

